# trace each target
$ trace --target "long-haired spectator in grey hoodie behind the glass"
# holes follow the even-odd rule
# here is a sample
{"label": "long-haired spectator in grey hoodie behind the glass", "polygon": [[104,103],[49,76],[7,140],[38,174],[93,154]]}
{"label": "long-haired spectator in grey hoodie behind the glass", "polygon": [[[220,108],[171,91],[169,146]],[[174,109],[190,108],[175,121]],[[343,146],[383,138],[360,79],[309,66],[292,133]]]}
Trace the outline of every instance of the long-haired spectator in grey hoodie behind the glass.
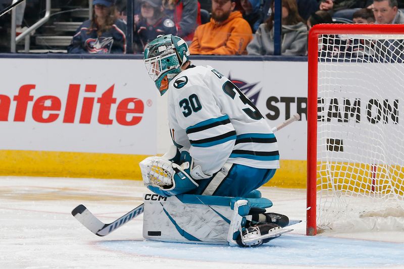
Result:
{"label": "long-haired spectator in grey hoodie behind the glass", "polygon": [[[274,14],[260,25],[254,39],[248,44],[248,55],[274,54]],[[282,0],[282,55],[307,54],[307,27],[297,11],[295,0]]]}

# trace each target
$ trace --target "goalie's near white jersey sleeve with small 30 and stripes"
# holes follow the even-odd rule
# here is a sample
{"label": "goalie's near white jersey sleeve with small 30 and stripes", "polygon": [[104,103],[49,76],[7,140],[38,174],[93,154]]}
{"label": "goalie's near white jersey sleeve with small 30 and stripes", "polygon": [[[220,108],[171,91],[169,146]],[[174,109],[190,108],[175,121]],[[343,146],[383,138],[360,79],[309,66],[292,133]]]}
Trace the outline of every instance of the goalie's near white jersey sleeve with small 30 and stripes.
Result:
{"label": "goalie's near white jersey sleeve with small 30 and stripes", "polygon": [[[194,166],[200,166],[205,175],[211,176],[229,158],[236,132],[203,80],[193,76],[184,76],[183,79],[188,79],[183,87],[176,88],[175,84],[170,89],[169,113],[173,140],[177,146],[184,146],[189,151],[194,158]],[[181,78],[175,81],[179,82]]]}

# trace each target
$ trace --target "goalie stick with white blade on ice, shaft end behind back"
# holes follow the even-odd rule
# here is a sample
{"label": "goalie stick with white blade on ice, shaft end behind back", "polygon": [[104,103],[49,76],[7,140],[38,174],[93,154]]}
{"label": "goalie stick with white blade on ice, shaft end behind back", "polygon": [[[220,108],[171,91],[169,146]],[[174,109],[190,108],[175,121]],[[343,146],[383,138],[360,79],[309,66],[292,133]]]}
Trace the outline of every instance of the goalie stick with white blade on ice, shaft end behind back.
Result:
{"label": "goalie stick with white blade on ice, shaft end behind back", "polygon": [[[292,115],[288,120],[285,122],[279,124],[277,127],[272,128],[272,132],[279,131],[283,127],[289,125],[290,123],[297,121],[300,119],[300,116],[296,113]],[[117,219],[116,221],[112,223],[103,223],[102,221],[98,220],[97,217],[95,217],[90,210],[87,209],[84,205],[80,204],[76,206],[72,210],[72,215],[74,218],[76,218],[85,228],[90,230],[93,234],[97,236],[106,236],[110,234],[111,232],[115,231],[117,228],[121,227],[125,223],[128,223],[129,221],[133,220],[137,216],[139,216],[141,213],[143,213],[143,208],[144,208],[144,203],[141,205],[137,206],[136,208],[132,209],[131,211],[127,212],[122,216],[121,218]],[[295,224],[295,223],[293,223]],[[289,224],[289,225],[293,225]]]}

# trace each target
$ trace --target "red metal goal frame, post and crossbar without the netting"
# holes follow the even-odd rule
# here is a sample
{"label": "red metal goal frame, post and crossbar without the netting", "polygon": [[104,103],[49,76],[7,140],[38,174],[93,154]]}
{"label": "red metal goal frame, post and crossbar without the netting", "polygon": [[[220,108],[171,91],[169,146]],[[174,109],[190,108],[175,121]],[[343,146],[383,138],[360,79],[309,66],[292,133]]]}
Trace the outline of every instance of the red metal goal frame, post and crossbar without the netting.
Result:
{"label": "red metal goal frame, post and crossbar without the netting", "polygon": [[309,32],[306,234],[317,234],[318,38],[321,34],[404,34],[403,24],[318,24]]}

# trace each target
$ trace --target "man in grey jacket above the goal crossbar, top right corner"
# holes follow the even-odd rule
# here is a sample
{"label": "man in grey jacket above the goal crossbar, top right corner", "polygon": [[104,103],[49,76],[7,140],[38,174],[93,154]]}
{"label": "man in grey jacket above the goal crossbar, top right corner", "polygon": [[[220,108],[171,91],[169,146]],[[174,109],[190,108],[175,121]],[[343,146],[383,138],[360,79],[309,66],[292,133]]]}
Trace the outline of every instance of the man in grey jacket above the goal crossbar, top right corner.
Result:
{"label": "man in grey jacket above the goal crossbar, top right corner", "polygon": [[398,10],[397,0],[374,0],[373,14],[376,23],[404,23],[404,14]]}

